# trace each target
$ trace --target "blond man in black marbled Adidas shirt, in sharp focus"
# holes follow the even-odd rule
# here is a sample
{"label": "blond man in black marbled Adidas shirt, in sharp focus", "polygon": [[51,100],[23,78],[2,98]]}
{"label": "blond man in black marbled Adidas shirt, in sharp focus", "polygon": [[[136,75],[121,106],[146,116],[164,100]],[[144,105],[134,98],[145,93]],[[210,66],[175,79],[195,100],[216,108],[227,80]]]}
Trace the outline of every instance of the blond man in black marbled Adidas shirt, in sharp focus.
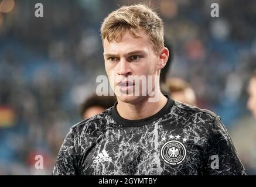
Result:
{"label": "blond man in black marbled Adidas shirt, in sharp focus", "polygon": [[[161,93],[159,74],[169,51],[152,9],[122,6],[105,18],[101,36],[117,102],[71,127],[53,175],[245,174],[219,117]],[[147,86],[146,95],[147,84],[139,84],[137,95],[129,77],[142,75],[156,84]]]}

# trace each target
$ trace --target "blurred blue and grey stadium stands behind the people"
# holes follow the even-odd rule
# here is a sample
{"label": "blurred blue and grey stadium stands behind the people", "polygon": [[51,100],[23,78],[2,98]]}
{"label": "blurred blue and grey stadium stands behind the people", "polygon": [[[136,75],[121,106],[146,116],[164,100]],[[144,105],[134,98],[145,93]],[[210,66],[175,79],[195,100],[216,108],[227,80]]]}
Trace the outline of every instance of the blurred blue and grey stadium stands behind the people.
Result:
{"label": "blurred blue and grey stadium stands behind the people", "polygon": [[[44,18],[35,17],[35,4]],[[79,106],[105,75],[100,25],[120,5],[149,1],[0,0],[0,175],[49,175]],[[211,18],[217,2],[220,17]],[[173,46],[168,76],[186,79],[216,112],[248,174],[256,174],[256,120],[246,108],[256,68],[256,1],[150,1]],[[35,169],[35,155],[44,169]]]}

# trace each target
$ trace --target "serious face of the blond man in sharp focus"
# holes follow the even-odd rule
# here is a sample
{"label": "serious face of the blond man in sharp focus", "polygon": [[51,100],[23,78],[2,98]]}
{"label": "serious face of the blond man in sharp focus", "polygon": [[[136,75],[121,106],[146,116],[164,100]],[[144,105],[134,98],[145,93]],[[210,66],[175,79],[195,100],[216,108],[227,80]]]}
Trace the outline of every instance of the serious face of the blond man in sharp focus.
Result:
{"label": "serious face of the blond man in sharp focus", "polygon": [[[159,55],[156,54],[147,34],[143,31],[138,34],[141,37],[135,38],[127,31],[118,42],[108,42],[107,39],[103,41],[105,70],[111,88],[122,102],[134,103],[142,99],[141,94],[134,94],[135,82],[128,81],[129,75],[132,75],[129,77],[145,75],[148,80],[148,75],[159,75],[160,69],[168,60],[166,48],[162,50],[165,51],[162,56],[167,56],[167,58],[162,59],[161,52]],[[155,76],[152,77],[152,82],[155,82]],[[142,93],[142,86],[146,84],[139,85],[139,93]],[[153,84],[152,87],[154,88],[155,85]],[[131,90],[133,92],[129,92]]]}

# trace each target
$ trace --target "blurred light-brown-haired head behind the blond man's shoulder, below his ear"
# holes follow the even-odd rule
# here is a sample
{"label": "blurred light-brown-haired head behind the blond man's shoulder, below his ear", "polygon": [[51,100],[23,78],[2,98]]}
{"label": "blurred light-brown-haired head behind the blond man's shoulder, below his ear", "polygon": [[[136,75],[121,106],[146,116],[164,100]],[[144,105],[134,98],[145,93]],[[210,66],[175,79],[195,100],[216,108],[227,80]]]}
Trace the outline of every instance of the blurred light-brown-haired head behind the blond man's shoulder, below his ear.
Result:
{"label": "blurred light-brown-haired head behind the blond man's shoulder, below his ear", "polygon": [[194,93],[194,90],[185,80],[178,77],[168,78],[166,81],[166,87],[168,88],[169,95],[172,99],[197,106],[196,93]]}

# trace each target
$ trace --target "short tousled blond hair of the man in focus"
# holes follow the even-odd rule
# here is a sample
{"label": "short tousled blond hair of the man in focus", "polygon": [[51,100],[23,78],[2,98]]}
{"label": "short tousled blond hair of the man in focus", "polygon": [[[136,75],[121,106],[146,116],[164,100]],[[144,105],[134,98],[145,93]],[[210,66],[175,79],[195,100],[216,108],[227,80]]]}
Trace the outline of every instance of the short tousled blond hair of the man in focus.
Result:
{"label": "short tousled blond hair of the man in focus", "polygon": [[111,12],[101,25],[101,39],[118,42],[127,30],[138,38],[141,37],[138,34],[140,29],[148,35],[156,51],[164,47],[162,19],[152,8],[143,4],[122,6]]}

